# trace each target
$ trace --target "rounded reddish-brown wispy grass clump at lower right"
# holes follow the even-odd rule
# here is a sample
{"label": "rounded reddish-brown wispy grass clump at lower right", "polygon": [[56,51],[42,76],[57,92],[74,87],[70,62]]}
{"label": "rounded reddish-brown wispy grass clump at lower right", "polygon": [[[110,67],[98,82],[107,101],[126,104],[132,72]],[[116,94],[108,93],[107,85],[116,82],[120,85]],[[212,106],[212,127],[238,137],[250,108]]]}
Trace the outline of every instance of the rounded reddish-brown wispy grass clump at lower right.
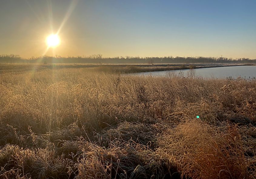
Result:
{"label": "rounded reddish-brown wispy grass clump at lower right", "polygon": [[170,129],[160,140],[159,151],[187,177],[248,178],[241,136],[235,126],[221,131],[201,121],[188,121]]}

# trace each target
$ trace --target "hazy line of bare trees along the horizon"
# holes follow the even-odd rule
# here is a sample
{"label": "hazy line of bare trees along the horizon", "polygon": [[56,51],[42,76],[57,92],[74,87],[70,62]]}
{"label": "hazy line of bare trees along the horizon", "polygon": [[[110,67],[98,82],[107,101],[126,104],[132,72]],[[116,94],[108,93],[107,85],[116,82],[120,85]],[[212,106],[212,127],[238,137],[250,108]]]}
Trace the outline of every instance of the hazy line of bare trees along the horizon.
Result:
{"label": "hazy line of bare trees along the horizon", "polygon": [[56,55],[21,58],[19,55],[0,55],[0,63],[90,63],[90,64],[194,64],[194,63],[223,63],[223,64],[256,64],[256,59],[249,58],[224,58],[224,57],[114,57],[103,58],[101,54],[88,57],[61,57]]}

